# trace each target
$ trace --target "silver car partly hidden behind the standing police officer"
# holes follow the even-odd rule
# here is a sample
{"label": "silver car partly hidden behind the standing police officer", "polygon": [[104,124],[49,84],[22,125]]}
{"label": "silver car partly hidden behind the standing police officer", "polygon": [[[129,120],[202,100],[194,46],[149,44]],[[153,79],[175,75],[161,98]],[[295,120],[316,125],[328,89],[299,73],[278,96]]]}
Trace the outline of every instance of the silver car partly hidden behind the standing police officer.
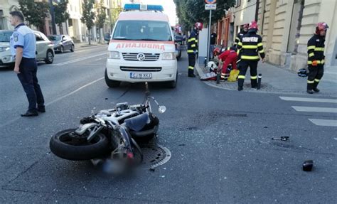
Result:
{"label": "silver car partly hidden behind the standing police officer", "polygon": [[[40,31],[33,31],[36,36],[36,60],[47,64],[53,63],[53,43]],[[9,42],[13,31],[0,30],[0,66],[14,65],[15,60],[11,55]]]}

